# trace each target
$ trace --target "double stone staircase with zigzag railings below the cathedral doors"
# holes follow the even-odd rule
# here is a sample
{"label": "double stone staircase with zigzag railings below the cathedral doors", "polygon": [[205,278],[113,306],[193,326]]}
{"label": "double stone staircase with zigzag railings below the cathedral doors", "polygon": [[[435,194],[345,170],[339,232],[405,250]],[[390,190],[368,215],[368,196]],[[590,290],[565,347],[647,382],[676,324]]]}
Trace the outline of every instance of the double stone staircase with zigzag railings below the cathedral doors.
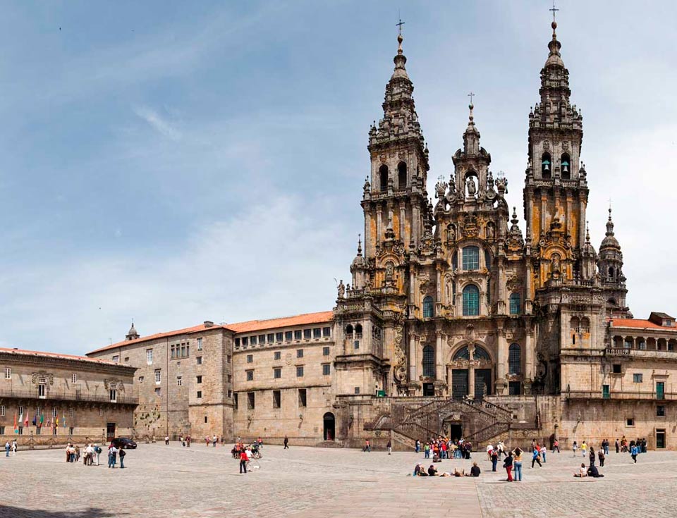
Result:
{"label": "double stone staircase with zigzag railings below the cathedral doors", "polygon": [[431,397],[425,402],[408,402],[404,397],[394,400],[389,412],[365,424],[365,430],[391,432],[397,434],[394,436],[398,439],[425,441],[448,435],[445,421],[462,421],[463,438],[477,448],[504,436],[513,428],[525,428],[513,421],[511,410],[485,399]]}

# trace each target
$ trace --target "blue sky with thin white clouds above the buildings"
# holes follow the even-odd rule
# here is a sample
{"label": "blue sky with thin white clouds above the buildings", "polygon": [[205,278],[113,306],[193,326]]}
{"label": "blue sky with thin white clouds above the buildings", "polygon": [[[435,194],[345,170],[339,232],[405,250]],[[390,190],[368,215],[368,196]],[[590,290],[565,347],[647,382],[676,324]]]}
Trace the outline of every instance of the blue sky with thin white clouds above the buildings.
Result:
{"label": "blue sky with thin white clouds above the buildings", "polygon": [[[331,309],[362,228],[398,8],[429,192],[475,97],[518,206],[543,1],[2,2],[0,345],[83,353]],[[677,314],[673,3],[564,1],[596,247],[613,199],[635,316]]]}

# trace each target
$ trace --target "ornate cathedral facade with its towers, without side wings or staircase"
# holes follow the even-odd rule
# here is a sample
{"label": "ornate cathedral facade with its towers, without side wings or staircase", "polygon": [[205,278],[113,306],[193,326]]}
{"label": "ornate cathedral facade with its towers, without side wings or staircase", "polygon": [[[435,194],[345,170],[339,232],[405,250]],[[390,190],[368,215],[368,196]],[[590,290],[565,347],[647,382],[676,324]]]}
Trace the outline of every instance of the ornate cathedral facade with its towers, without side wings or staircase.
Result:
{"label": "ornate cathedral facade with its towers, without side wings or staircase", "polygon": [[387,395],[559,393],[568,354],[602,347],[606,319],[629,315],[611,213],[599,254],[587,232],[583,116],[552,30],[529,113],[524,234],[472,103],[451,178],[439,177],[429,199],[428,149],[398,36],[383,118],[369,132],[364,254],[360,242],[334,310],[339,392],[364,376]]}

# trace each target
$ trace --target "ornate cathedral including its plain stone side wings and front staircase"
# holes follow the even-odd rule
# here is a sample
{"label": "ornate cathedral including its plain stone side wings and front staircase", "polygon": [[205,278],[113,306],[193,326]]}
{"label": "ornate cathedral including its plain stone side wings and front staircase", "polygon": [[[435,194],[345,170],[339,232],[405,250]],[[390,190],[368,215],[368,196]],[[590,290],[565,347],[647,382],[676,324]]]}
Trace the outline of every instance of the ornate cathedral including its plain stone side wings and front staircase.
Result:
{"label": "ornate cathedral including its plain stone side wings and front staircase", "polygon": [[439,433],[563,447],[626,436],[677,448],[675,319],[630,313],[611,209],[599,249],[590,242],[583,116],[551,27],[528,114],[524,232],[472,97],[454,171],[429,197],[400,34],[369,131],[364,242],[334,309],[146,337],[132,326],[88,353],[137,369],[133,433],[396,448]]}

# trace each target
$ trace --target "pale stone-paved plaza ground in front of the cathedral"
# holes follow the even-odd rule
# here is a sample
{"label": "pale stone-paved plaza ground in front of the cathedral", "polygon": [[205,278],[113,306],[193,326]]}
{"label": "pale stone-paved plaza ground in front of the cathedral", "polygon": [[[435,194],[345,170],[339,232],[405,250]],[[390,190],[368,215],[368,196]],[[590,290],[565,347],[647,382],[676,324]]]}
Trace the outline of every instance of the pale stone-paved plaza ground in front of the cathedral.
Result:
{"label": "pale stone-paved plaza ground in front of the cathedral", "polygon": [[[424,462],[414,452],[293,445],[266,446],[260,469],[240,475],[230,448],[141,444],[128,452],[127,469],[106,468],[104,455],[102,466],[85,467],[66,463],[63,450],[3,452],[0,517],[609,518],[674,517],[677,509],[677,452],[649,452],[633,464],[612,451],[605,478],[583,480],[572,476],[580,454],[548,453],[534,469],[525,455],[523,482],[507,483],[479,452],[472,460],[482,476],[460,479],[407,476]],[[468,471],[471,463],[437,467]]]}

